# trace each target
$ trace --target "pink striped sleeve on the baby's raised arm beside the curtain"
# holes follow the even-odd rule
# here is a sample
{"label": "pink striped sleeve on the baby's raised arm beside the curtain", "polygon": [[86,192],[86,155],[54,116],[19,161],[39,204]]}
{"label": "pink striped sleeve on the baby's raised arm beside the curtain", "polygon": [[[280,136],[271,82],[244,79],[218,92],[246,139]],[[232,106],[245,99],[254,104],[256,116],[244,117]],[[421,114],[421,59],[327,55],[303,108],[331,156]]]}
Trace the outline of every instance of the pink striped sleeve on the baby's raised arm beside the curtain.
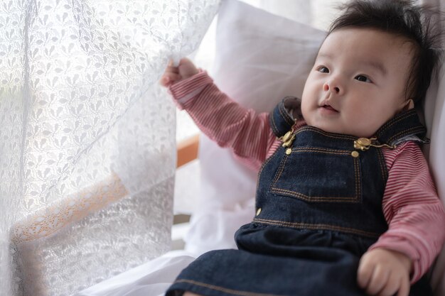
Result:
{"label": "pink striped sleeve on the baby's raised arm beside the curtain", "polygon": [[276,137],[269,114],[257,114],[227,97],[205,71],[173,84],[169,91],[180,109],[221,147],[230,147],[245,165],[259,170]]}

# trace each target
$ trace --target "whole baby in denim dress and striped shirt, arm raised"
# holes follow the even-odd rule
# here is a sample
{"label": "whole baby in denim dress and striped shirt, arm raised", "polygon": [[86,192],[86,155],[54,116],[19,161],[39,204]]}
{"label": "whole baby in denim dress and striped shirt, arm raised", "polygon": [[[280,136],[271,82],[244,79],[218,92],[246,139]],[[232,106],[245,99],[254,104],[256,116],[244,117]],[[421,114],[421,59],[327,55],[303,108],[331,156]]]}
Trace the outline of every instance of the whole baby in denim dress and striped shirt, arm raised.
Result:
{"label": "whole baby in denim dress and striped shirt, arm raised", "polygon": [[355,0],[331,25],[301,103],[233,102],[190,60],[161,84],[200,129],[259,168],[238,250],[210,251],[166,295],[432,295],[423,277],[445,213],[419,148],[414,102],[438,61],[424,10]]}

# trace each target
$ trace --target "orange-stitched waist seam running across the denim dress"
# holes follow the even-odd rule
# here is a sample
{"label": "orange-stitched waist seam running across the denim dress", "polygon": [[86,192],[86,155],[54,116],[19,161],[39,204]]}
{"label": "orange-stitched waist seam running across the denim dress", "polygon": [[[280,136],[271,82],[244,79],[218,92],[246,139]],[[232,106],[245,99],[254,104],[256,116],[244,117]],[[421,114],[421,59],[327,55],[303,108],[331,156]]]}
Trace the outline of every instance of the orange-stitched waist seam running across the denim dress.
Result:
{"label": "orange-stitched waist seam running across the denim dress", "polygon": [[261,219],[261,218],[254,218],[254,222],[259,222],[263,224],[269,224],[269,225],[276,225],[276,226],[285,226],[290,228],[296,228],[296,229],[310,229],[310,230],[332,230],[332,231],[341,231],[346,232],[350,234],[358,234],[362,236],[368,236],[368,237],[379,237],[380,234],[370,232],[370,231],[364,231],[360,229],[353,229],[349,227],[342,227],[342,226],[335,226],[335,225],[329,225],[329,224],[309,224],[309,223],[299,223],[299,222],[288,222],[288,221],[280,221],[280,220],[269,220],[269,219]]}

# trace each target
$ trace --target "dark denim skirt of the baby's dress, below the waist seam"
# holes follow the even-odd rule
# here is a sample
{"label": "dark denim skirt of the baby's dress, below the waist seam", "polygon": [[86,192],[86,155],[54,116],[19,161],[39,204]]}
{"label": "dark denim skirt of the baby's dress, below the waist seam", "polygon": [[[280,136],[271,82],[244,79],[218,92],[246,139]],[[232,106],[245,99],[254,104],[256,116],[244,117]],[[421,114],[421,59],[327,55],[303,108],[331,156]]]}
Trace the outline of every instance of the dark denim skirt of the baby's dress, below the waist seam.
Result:
{"label": "dark denim skirt of the baby's dress, below the waist seam", "polygon": [[[358,253],[366,241],[332,231],[294,230],[259,224],[256,230],[271,235],[264,235],[267,244],[260,242],[261,248],[255,248],[254,252],[240,249],[203,254],[181,272],[166,296],[183,295],[184,291],[207,296],[366,295],[356,284]],[[277,235],[276,231],[282,232]],[[295,232],[299,234],[295,235]],[[283,237],[279,237],[282,235],[289,237],[289,244],[282,244]],[[251,243],[257,242],[258,238],[253,236]],[[279,244],[274,238],[279,239]],[[354,246],[355,240],[359,242],[359,248]],[[264,248],[266,245],[269,248]],[[347,248],[343,248],[345,246]],[[355,253],[348,251],[350,249],[355,249]],[[422,278],[413,285],[409,296],[432,296],[427,279]]]}

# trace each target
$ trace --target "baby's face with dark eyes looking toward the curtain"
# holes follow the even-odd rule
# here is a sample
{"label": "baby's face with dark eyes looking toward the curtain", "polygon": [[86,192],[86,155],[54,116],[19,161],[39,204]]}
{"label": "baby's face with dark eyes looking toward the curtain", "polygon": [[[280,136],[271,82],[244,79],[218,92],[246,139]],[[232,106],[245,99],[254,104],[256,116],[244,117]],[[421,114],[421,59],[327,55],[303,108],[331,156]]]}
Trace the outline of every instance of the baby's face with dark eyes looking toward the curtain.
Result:
{"label": "baby's face with dark eyes looking toward the curtain", "polygon": [[306,123],[370,137],[404,109],[412,45],[370,29],[343,28],[323,42],[301,99]]}

